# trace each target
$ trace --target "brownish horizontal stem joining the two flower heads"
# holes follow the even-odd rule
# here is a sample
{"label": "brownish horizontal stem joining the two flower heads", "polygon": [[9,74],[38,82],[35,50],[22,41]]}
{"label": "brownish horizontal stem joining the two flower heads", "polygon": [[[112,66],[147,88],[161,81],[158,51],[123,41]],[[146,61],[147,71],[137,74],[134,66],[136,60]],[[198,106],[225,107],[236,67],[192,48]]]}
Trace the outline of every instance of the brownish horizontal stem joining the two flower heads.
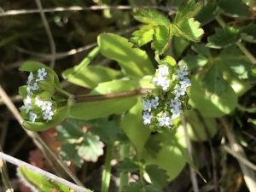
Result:
{"label": "brownish horizontal stem joining the two flower heads", "polygon": [[109,99],[117,99],[117,98],[129,97],[129,96],[139,96],[147,92],[151,92],[152,90],[153,89],[141,89],[141,90],[130,90],[130,91],[123,91],[123,92],[109,93],[109,94],[102,94],[102,95],[72,96],[70,100],[73,103],[98,102],[98,101],[105,101]]}

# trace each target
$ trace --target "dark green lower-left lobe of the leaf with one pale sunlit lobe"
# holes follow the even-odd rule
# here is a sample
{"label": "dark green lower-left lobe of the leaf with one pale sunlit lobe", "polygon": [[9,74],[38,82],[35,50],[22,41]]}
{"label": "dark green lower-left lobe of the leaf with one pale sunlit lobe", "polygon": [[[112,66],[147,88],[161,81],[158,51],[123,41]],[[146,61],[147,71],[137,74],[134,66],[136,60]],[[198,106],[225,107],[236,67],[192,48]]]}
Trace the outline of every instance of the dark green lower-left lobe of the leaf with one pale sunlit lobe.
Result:
{"label": "dark green lower-left lobe of the leaf with one pale sunlit lobe", "polygon": [[76,166],[81,167],[83,158],[79,155],[76,144],[65,143],[60,148],[60,155],[63,160],[73,160]]}

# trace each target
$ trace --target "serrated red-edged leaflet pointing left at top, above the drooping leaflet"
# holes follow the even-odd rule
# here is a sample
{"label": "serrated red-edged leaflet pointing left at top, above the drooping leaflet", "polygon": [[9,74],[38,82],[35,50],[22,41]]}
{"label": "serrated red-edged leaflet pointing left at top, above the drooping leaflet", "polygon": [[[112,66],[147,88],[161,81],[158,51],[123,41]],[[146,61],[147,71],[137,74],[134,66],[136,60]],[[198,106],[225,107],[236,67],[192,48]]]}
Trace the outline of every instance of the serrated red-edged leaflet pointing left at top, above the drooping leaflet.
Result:
{"label": "serrated red-edged leaflet pointing left at top, above the drooping leaflet", "polygon": [[148,26],[170,26],[171,22],[166,16],[161,15],[155,9],[138,9],[133,15],[136,20],[139,20]]}

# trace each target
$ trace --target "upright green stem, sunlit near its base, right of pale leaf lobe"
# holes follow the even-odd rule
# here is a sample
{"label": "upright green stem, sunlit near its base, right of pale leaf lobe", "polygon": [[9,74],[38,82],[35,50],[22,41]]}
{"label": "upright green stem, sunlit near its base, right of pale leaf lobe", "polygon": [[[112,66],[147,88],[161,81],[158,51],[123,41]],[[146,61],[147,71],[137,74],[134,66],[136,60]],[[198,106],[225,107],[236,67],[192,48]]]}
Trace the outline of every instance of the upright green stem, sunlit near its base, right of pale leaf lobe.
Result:
{"label": "upright green stem, sunlit near its base, right of pale leaf lobe", "polygon": [[110,161],[112,160],[112,149],[113,149],[113,145],[107,146],[104,170],[102,172],[102,189],[101,189],[102,192],[108,192],[108,189],[109,189],[109,183],[111,178]]}

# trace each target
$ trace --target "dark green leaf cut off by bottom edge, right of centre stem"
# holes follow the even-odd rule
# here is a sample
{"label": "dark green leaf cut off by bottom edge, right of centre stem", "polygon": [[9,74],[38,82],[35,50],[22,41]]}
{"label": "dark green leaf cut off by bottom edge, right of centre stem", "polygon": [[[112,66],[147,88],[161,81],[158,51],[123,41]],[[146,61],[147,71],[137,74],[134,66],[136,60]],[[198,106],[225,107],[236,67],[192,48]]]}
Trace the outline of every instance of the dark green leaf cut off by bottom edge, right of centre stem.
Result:
{"label": "dark green leaf cut off by bottom edge, right of centre stem", "polygon": [[143,191],[143,192],[160,192],[160,189],[155,188],[153,185],[145,185],[143,182],[131,182],[124,187],[124,192],[134,192],[134,191]]}

